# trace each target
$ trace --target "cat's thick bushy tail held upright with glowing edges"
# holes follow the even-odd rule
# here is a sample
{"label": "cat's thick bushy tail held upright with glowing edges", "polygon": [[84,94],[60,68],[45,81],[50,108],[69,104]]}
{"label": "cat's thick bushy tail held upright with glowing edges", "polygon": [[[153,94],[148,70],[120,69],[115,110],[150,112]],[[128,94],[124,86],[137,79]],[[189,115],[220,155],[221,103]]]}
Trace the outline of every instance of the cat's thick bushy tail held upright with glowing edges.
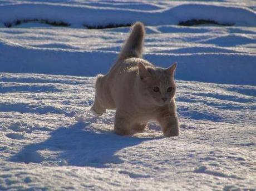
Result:
{"label": "cat's thick bushy tail held upright with glowing edges", "polygon": [[127,38],[121,49],[118,60],[121,61],[132,57],[142,58],[144,36],[144,24],[136,22],[134,26],[132,26],[130,36]]}

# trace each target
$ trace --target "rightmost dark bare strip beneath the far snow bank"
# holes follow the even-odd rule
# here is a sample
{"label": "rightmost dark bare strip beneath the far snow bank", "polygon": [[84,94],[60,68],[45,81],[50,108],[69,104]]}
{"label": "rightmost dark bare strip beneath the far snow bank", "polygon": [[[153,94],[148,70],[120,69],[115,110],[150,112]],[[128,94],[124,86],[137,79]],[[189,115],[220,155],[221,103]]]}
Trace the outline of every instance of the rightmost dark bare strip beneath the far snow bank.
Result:
{"label": "rightmost dark bare strip beneath the far snow bank", "polygon": [[179,26],[195,26],[200,24],[216,24],[219,26],[234,26],[234,23],[219,23],[210,19],[189,19],[187,21],[180,21]]}

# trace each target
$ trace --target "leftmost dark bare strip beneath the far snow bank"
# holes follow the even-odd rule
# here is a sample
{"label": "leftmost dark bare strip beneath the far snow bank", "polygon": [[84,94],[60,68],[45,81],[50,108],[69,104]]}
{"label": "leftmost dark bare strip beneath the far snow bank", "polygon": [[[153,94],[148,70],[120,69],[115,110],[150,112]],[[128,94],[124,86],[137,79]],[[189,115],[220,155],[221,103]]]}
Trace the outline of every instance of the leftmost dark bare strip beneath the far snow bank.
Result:
{"label": "leftmost dark bare strip beneath the far snow bank", "polygon": [[69,23],[63,22],[63,21],[50,21],[48,19],[19,19],[13,22],[5,22],[4,26],[10,28],[13,26],[17,26],[23,23],[31,23],[31,22],[37,22],[37,23],[42,23],[42,24],[49,24],[51,26],[55,27],[68,27],[70,26]]}

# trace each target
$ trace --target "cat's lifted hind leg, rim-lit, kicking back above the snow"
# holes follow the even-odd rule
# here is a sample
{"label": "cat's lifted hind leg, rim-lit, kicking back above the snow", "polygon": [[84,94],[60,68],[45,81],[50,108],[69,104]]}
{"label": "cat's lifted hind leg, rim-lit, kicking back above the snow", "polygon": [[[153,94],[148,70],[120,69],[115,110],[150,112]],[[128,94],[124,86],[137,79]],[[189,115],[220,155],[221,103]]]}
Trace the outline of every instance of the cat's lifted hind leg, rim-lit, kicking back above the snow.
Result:
{"label": "cat's lifted hind leg, rim-lit, kicking back above the snow", "polygon": [[95,84],[95,98],[94,98],[93,105],[91,107],[91,112],[97,116],[100,116],[106,112],[106,108],[101,104],[102,103],[101,96],[103,92],[102,88],[104,88],[102,84],[103,77],[104,76],[101,74],[97,76],[96,84]]}

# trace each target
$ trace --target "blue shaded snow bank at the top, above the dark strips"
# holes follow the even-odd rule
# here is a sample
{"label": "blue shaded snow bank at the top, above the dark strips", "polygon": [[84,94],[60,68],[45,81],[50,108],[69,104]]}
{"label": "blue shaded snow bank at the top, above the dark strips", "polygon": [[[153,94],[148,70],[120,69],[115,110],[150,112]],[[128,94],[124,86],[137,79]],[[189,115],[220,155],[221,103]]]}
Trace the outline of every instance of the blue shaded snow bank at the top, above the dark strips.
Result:
{"label": "blue shaded snow bank at the top, above the dark strips", "polygon": [[[239,15],[239,16],[238,16]],[[217,6],[214,4],[180,4],[158,10],[136,10],[87,5],[48,2],[18,2],[0,6],[0,22],[14,24],[16,21],[43,19],[65,22],[73,27],[127,24],[136,21],[149,26],[178,24],[189,19],[213,20],[236,26],[256,26],[256,13],[246,7]]]}

